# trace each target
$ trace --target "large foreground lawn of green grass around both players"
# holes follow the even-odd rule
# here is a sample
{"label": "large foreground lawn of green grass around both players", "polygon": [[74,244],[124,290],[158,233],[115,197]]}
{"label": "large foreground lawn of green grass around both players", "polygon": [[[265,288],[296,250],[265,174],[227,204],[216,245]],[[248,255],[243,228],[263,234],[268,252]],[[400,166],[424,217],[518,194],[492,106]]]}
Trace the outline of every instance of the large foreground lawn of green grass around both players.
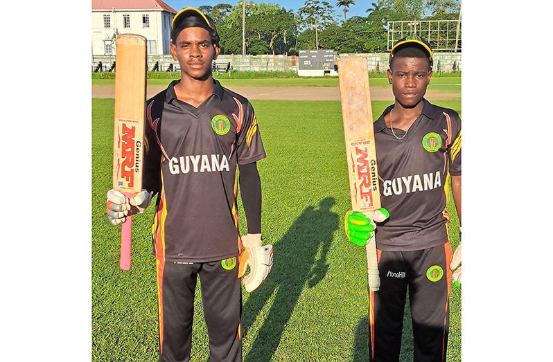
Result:
{"label": "large foreground lawn of green grass around both players", "polygon": [[[461,110],[460,100],[436,103]],[[368,361],[365,250],[349,243],[342,230],[350,203],[340,102],[252,104],[267,152],[258,170],[262,230],[274,246],[274,266],[254,293],[243,292],[245,361]],[[374,116],[387,104],[373,102]],[[93,99],[92,110],[92,360],[157,361],[153,210],[134,217],[132,269],[119,270],[120,228],[107,224],[105,215],[113,100]],[[448,210],[455,247],[453,202]],[[240,229],[246,230],[241,205]],[[461,361],[459,288],[452,289],[450,309],[448,361]],[[207,361],[199,288],[195,316],[191,361]],[[412,360],[408,318],[407,309],[401,361]]]}

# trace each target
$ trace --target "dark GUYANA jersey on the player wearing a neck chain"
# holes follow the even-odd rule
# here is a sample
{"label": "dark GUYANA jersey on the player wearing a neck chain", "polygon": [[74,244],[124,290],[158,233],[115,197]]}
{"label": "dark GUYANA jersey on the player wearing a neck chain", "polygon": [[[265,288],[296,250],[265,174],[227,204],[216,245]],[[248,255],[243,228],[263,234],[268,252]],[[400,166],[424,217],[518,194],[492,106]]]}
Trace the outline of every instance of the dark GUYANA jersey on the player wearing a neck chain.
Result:
{"label": "dark GUYANA jersey on the player wearing a neck chain", "polygon": [[[387,107],[374,123],[382,207],[390,217],[378,226],[385,251],[414,251],[448,241],[448,173],[461,174],[461,119],[452,109],[423,99],[421,116],[407,131],[387,128]],[[385,165],[385,166],[383,166]]]}

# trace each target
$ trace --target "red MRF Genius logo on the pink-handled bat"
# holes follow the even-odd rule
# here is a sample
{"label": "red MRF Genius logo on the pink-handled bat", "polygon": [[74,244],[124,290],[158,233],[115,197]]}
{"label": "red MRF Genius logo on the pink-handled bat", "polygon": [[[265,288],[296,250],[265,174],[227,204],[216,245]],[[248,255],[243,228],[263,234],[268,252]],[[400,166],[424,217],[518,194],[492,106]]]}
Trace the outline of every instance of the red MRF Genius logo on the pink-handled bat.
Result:
{"label": "red MRF Genius logo on the pink-handled bat", "polygon": [[118,148],[121,153],[117,170],[118,185],[121,188],[133,188],[134,174],[140,172],[142,143],[135,137],[137,127],[132,123],[137,123],[136,121],[120,120],[120,122]]}

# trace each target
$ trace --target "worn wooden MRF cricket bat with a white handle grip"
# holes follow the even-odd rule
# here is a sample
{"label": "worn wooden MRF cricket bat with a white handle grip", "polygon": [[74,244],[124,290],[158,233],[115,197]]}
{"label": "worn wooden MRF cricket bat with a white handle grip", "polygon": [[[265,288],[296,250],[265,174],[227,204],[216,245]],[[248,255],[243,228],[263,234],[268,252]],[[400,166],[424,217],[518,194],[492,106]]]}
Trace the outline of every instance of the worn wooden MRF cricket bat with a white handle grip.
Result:
{"label": "worn wooden MRF cricket bat with a white handle grip", "polygon": [[[380,188],[374,144],[373,112],[369,89],[369,71],[365,57],[338,60],[342,120],[346,140],[351,208],[371,219],[380,208]],[[376,240],[367,243],[369,290],[380,289]]]}

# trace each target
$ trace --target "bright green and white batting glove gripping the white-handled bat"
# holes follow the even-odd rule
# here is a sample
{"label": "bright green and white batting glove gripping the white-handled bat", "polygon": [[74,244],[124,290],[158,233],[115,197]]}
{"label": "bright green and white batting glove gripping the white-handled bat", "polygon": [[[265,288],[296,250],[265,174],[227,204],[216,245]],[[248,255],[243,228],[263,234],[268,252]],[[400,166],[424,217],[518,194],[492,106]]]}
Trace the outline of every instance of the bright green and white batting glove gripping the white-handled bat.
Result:
{"label": "bright green and white batting glove gripping the white-handled bat", "polygon": [[349,210],[344,216],[344,229],[349,241],[358,246],[367,245],[369,239],[374,236],[374,230],[376,230],[374,221],[382,222],[388,217],[389,212],[385,208],[376,210],[373,220],[362,212]]}

